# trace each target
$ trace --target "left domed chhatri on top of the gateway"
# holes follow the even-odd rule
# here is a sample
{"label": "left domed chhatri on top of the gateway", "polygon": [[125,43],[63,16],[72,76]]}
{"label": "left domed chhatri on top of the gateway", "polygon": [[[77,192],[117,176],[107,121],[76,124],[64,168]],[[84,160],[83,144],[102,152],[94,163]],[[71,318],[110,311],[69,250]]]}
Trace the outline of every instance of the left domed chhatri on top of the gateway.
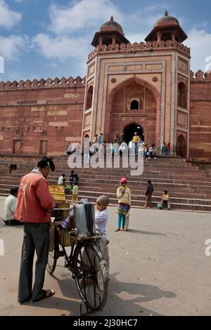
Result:
{"label": "left domed chhatri on top of the gateway", "polygon": [[124,32],[121,25],[113,19],[111,16],[108,22],[101,25],[101,28],[94,35],[94,39],[91,42],[91,45],[96,47],[98,45],[109,45],[109,44],[127,44],[129,40],[124,37]]}

